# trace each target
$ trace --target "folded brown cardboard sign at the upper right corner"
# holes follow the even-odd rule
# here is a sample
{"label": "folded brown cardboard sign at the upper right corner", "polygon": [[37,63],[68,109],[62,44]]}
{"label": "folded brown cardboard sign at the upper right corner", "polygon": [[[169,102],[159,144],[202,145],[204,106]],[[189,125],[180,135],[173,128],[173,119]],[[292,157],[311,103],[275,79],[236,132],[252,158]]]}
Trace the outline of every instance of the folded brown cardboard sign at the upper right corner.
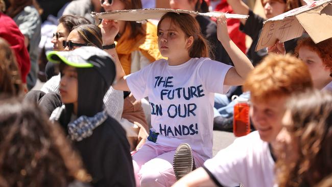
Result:
{"label": "folded brown cardboard sign at the upper right corner", "polygon": [[331,0],[315,1],[290,10],[264,22],[256,51],[280,42],[300,37],[304,31],[315,43],[332,37]]}

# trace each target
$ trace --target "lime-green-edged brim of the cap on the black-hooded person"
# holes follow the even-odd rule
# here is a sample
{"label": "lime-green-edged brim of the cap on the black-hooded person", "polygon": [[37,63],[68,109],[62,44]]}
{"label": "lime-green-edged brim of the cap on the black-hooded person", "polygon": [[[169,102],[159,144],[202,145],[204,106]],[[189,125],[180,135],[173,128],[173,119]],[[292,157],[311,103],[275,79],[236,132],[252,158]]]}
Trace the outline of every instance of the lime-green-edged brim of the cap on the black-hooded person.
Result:
{"label": "lime-green-edged brim of the cap on the black-hooded person", "polygon": [[77,63],[77,62],[72,62],[69,61],[65,56],[62,55],[63,52],[59,52],[59,51],[52,51],[50,53],[48,53],[47,55],[47,59],[50,62],[53,63],[60,63],[61,61],[66,63],[67,65],[73,66],[73,67],[93,67],[93,64],[91,63]]}

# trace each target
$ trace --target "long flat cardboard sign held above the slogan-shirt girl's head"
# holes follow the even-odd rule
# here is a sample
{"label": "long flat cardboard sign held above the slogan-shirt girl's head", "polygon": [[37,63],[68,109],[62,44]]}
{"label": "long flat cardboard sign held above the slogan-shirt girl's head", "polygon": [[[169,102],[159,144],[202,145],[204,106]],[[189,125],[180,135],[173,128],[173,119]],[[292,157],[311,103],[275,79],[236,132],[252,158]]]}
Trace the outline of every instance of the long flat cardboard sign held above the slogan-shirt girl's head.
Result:
{"label": "long flat cardboard sign held above the slogan-shirt girl's head", "polygon": [[115,10],[111,12],[96,13],[92,12],[91,16],[95,19],[112,19],[123,21],[145,21],[147,19],[160,19],[167,12],[186,13],[194,15],[202,15],[208,17],[219,17],[225,14],[226,18],[247,19],[248,15],[241,14],[227,14],[223,12],[207,12],[199,13],[188,10],[173,10],[173,9],[134,9],[134,10]]}

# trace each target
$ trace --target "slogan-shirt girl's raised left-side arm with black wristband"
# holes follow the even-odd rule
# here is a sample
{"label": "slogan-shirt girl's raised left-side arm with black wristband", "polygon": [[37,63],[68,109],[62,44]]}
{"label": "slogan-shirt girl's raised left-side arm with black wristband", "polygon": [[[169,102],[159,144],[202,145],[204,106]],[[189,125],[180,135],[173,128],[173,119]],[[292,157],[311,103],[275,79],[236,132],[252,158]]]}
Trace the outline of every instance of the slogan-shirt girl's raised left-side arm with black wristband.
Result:
{"label": "slogan-shirt girl's raised left-side arm with black wristband", "polygon": [[[118,33],[118,30],[119,30],[118,22],[114,20],[103,19],[101,31],[102,31],[104,46],[111,45],[114,43],[114,38]],[[104,51],[106,51],[108,54],[112,56],[113,59],[115,59],[114,63],[116,68],[116,77],[112,87],[117,90],[129,91],[129,87],[126,81],[126,74],[122,68],[120,60],[118,59],[115,48],[105,49]]]}

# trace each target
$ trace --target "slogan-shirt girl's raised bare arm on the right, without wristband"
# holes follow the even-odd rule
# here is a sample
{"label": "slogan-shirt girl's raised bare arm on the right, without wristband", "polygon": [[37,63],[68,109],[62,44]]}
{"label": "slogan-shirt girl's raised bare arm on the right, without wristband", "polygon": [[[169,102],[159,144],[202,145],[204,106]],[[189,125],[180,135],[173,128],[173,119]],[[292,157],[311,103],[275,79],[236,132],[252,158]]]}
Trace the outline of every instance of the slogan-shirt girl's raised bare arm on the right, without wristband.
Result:
{"label": "slogan-shirt girl's raised bare arm on the right, without wristband", "polygon": [[218,40],[221,42],[221,44],[227,51],[230,59],[232,59],[235,67],[230,68],[227,72],[224,84],[230,86],[242,85],[248,73],[252,69],[254,69],[254,66],[252,65],[248,57],[229,38],[225,15],[222,15],[217,19],[217,36]]}

